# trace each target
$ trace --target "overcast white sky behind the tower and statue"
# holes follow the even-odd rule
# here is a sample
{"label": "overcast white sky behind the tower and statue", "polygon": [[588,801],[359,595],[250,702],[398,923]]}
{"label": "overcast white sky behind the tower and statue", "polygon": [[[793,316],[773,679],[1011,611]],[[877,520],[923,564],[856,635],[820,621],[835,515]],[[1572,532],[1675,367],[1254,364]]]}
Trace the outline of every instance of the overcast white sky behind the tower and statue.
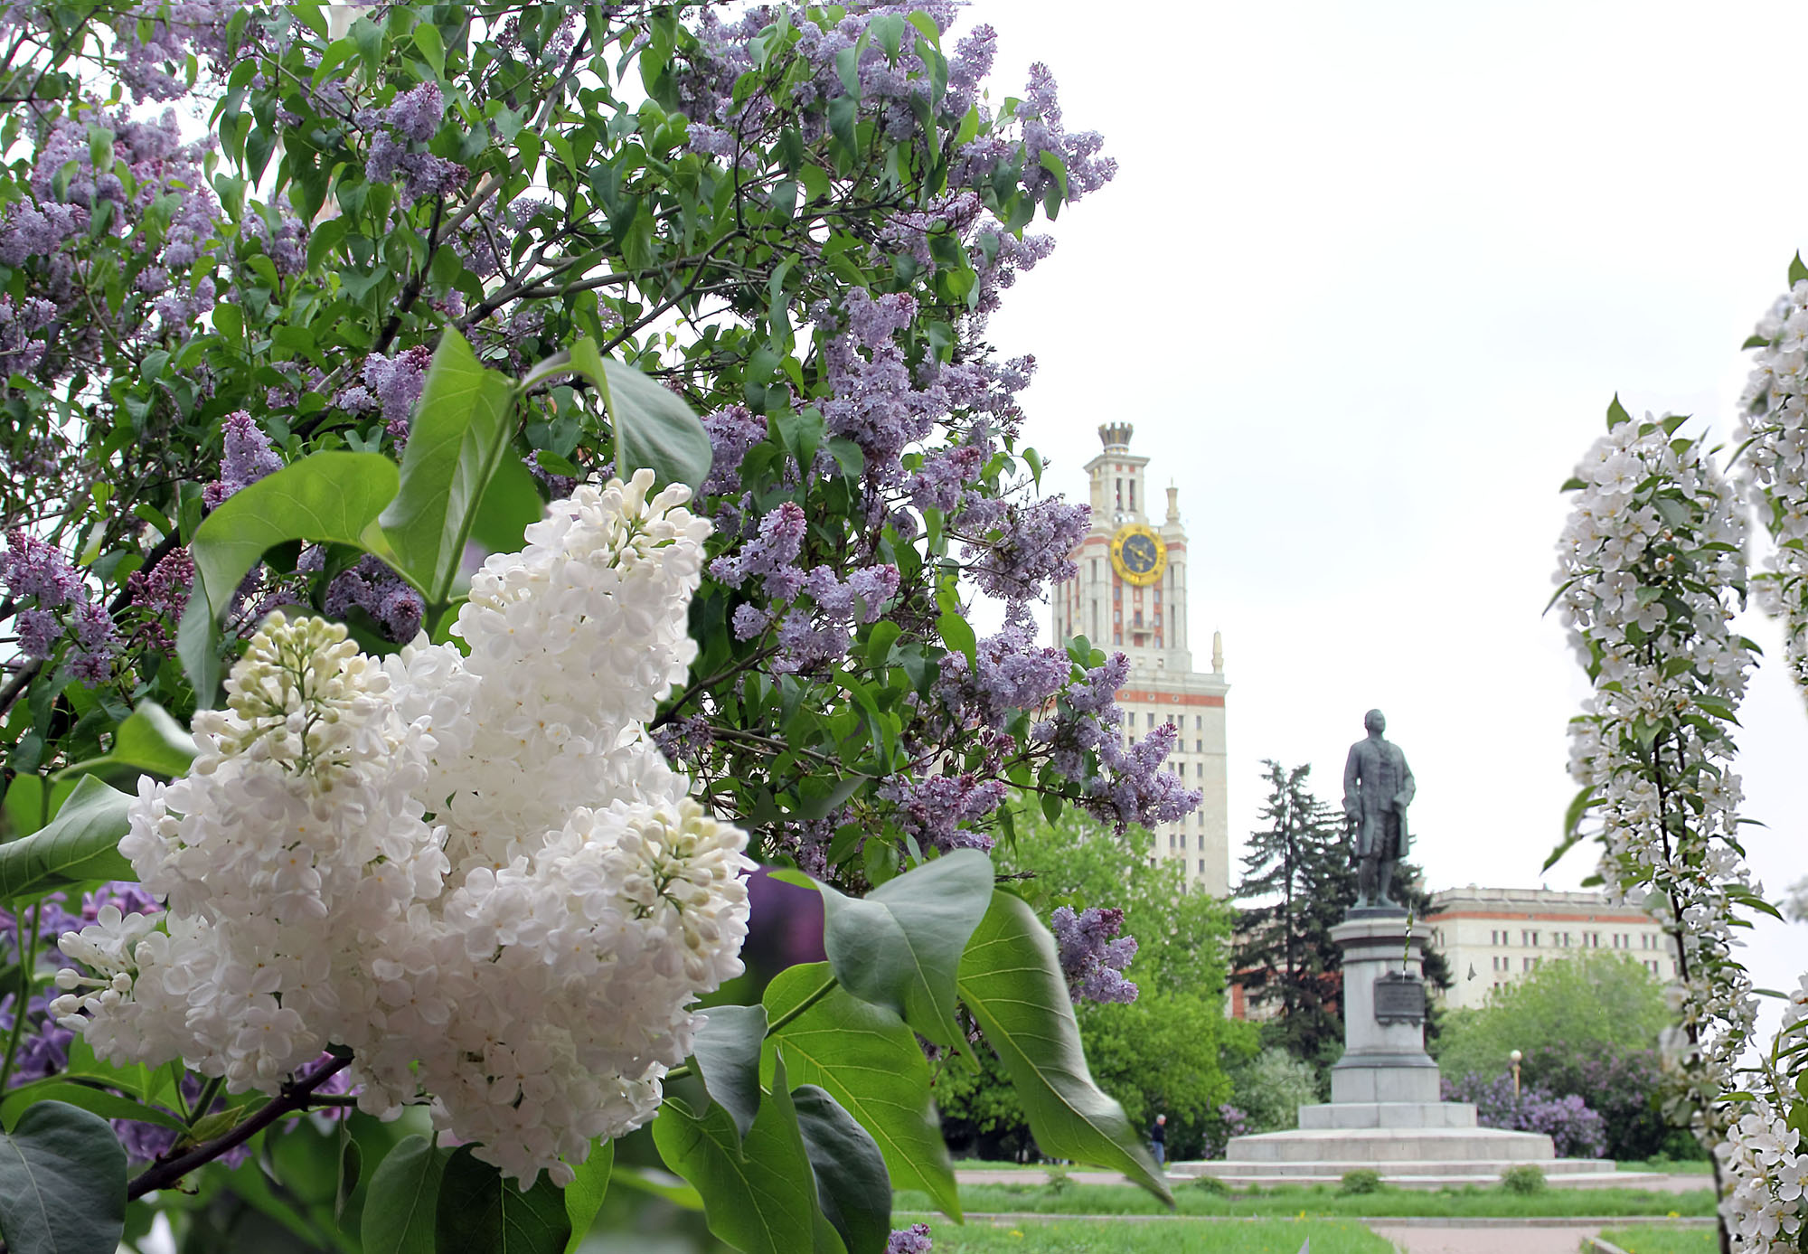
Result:
{"label": "overcast white sky behind the tower and statue", "polygon": [[[1032,60],[1121,170],[991,338],[1034,352],[1045,486],[1135,423],[1190,535],[1193,649],[1224,631],[1233,842],[1264,757],[1336,799],[1380,707],[1432,887],[1549,875],[1586,692],[1555,618],[1558,484],[1618,392],[1716,432],[1739,343],[1808,244],[1784,51],[1797,4],[976,0],[994,96]],[[1748,634],[1781,660],[1756,614]],[[1047,623],[1045,623],[1047,629]],[[1752,862],[1808,873],[1808,717],[1745,707]],[[1233,878],[1238,849],[1233,846]],[[1808,931],[1754,938],[1794,987]]]}

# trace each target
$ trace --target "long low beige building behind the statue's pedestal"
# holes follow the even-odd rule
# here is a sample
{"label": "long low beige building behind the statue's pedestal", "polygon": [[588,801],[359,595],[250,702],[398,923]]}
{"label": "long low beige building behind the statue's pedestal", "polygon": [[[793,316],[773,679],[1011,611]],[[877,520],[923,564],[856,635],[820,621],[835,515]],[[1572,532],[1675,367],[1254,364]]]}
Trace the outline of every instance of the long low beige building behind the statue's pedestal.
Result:
{"label": "long low beige building behind the statue's pedestal", "polygon": [[1625,954],[1665,983],[1676,979],[1676,952],[1649,914],[1609,905],[1600,893],[1548,889],[1464,889],[1432,893],[1430,941],[1450,963],[1450,1008],[1479,1006],[1502,985],[1540,963],[1586,950]]}

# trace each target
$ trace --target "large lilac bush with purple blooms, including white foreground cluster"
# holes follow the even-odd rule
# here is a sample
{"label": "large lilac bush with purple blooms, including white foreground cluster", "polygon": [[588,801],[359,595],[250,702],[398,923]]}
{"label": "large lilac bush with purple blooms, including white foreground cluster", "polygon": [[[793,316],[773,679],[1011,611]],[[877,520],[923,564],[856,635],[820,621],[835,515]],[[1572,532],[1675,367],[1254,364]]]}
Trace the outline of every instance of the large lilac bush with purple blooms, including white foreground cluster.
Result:
{"label": "large lilac bush with purple blooms, including white foreground cluster", "polygon": [[[184,1178],[419,1106],[268,1205],[562,1247],[651,1124],[721,1241],[877,1254],[891,1182],[958,1212],[918,1048],[965,1068],[958,1023],[1050,1153],[1166,1196],[985,858],[1018,806],[1197,804],[1128,663],[1034,641],[1085,508],[984,338],[1114,166],[953,20],[0,9],[0,1137],[87,1164],[45,1241],[127,1202],[181,1241]],[[826,961],[698,1015],[749,860],[814,880]],[[45,894],[132,882],[56,974]],[[174,1137],[125,1180],[128,1115]]]}

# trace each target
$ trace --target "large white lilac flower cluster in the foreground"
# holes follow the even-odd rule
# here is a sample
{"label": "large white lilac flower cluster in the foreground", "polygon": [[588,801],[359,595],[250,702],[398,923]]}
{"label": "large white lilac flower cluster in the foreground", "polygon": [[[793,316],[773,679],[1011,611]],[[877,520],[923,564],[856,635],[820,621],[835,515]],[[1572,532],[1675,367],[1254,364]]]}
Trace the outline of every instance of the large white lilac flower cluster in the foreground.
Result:
{"label": "large white lilac flower cluster in the foreground", "polygon": [[168,912],[67,934],[96,974],[61,974],[60,1021],[231,1091],[349,1048],[363,1109],[430,1100],[523,1182],[651,1118],[687,1006],[741,970],[752,869],[645,734],[709,533],[651,482],[580,486],[492,557],[468,656],[266,620],[192,773],[132,806],[119,847]]}

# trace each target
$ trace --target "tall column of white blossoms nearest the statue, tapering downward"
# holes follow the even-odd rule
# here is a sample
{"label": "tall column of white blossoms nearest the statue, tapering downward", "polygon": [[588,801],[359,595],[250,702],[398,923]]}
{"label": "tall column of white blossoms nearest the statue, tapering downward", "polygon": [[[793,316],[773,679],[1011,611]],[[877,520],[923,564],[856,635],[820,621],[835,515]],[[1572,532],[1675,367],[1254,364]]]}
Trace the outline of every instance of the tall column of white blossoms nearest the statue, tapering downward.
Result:
{"label": "tall column of white blossoms nearest the statue, tapering downward", "polygon": [[1676,938],[1681,1028],[1665,1041],[1672,1109],[1725,1133],[1754,1001],[1734,911],[1756,896],[1737,847],[1727,732],[1752,658],[1730,629],[1745,519],[1680,419],[1624,419],[1577,468],[1558,602],[1593,681],[1571,721],[1571,773],[1595,800],[1602,878]]}

